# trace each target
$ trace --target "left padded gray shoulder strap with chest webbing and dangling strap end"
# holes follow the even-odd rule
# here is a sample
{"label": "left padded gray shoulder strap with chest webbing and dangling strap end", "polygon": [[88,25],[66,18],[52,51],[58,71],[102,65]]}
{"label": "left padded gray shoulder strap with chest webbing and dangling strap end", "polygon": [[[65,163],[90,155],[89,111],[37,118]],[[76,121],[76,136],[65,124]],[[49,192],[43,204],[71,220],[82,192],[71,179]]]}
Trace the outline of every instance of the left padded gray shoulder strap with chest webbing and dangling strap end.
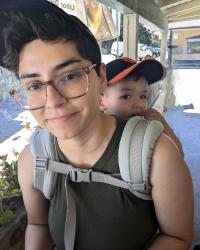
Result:
{"label": "left padded gray shoulder strap with chest webbing and dangling strap end", "polygon": [[[76,230],[76,207],[70,186],[68,185],[68,173],[72,166],[58,162],[59,158],[55,150],[55,143],[55,137],[46,130],[37,131],[32,135],[30,149],[35,159],[33,185],[39,189],[47,199],[50,199],[56,185],[57,173],[64,172],[66,174],[65,190],[67,213],[63,237],[65,249],[73,250]],[[54,161],[49,159],[53,159]]]}

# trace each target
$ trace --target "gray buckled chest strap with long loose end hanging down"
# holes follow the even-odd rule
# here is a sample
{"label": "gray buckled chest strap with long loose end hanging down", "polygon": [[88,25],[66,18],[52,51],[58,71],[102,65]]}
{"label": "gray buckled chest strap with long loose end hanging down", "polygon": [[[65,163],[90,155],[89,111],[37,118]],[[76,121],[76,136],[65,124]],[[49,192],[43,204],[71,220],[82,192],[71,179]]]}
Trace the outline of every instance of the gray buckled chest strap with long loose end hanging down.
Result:
{"label": "gray buckled chest strap with long loose end hanging down", "polygon": [[[76,205],[73,199],[71,187],[69,181],[73,182],[99,182],[105,183],[116,187],[121,187],[130,190],[132,193],[142,191],[147,188],[146,183],[131,184],[122,181],[116,176],[119,174],[104,174],[95,172],[92,169],[80,169],[74,168],[73,166],[57,161],[52,161],[44,157],[36,157],[36,173],[42,174],[43,178],[46,172],[54,172],[65,174],[65,192],[66,192],[66,203],[67,212],[65,220],[65,231],[64,231],[64,245],[65,249],[73,250],[76,234]],[[48,170],[48,171],[47,171]]]}

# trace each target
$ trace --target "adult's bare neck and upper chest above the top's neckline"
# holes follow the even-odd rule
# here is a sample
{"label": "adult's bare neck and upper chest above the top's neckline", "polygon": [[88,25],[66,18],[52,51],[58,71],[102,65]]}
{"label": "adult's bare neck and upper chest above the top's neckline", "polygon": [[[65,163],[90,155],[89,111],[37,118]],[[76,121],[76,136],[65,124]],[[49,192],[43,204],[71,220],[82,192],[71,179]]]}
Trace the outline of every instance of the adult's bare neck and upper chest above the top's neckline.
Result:
{"label": "adult's bare neck and upper chest above the top's neckline", "polygon": [[116,119],[102,114],[82,135],[70,140],[58,140],[58,145],[72,165],[89,168],[107,148],[115,128]]}

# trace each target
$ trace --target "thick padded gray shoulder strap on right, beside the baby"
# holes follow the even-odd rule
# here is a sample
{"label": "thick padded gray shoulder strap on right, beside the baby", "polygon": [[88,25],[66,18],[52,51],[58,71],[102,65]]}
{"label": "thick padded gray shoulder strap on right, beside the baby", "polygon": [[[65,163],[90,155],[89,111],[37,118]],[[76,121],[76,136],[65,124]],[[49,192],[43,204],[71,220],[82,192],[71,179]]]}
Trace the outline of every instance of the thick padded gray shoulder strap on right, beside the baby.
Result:
{"label": "thick padded gray shoulder strap on right, beside the baby", "polygon": [[130,191],[145,200],[151,200],[149,166],[155,143],[162,132],[160,122],[135,116],[129,119],[121,137],[118,152],[121,177],[127,183],[144,187],[143,190]]}

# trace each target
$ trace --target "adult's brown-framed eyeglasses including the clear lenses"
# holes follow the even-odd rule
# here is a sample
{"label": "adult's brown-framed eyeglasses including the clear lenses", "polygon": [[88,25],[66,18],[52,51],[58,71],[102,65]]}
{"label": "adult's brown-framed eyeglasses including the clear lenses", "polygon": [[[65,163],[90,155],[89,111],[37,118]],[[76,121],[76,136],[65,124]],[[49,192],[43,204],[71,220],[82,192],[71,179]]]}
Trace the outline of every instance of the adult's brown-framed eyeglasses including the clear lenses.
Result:
{"label": "adult's brown-framed eyeglasses including the clear lenses", "polygon": [[97,64],[87,68],[68,72],[48,82],[30,82],[10,92],[15,101],[26,110],[41,109],[46,105],[47,87],[53,85],[56,91],[66,99],[76,99],[86,95],[89,89],[89,73]]}

